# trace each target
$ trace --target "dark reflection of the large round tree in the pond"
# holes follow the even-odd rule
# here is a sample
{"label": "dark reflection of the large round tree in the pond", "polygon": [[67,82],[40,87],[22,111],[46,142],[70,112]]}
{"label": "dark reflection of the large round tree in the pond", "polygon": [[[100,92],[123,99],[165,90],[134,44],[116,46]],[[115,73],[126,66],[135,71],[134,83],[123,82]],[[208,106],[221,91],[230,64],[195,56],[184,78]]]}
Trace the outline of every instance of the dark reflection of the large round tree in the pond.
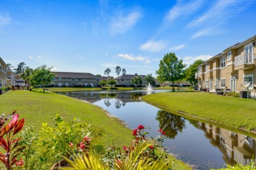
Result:
{"label": "dark reflection of the large round tree in the pond", "polygon": [[160,129],[163,129],[169,139],[174,139],[178,135],[178,131],[182,132],[182,129],[186,128],[184,118],[165,110],[158,110],[156,120],[160,124]]}

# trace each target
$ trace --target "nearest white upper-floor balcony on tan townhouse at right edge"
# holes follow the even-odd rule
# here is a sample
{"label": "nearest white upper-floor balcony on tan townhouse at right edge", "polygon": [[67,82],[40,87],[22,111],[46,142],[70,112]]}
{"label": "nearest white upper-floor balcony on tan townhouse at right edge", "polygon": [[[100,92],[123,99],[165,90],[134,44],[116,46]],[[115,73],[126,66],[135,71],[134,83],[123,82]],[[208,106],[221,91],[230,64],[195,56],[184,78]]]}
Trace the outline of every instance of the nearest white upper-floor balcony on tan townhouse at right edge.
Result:
{"label": "nearest white upper-floor balcony on tan townhouse at right edge", "polygon": [[253,69],[255,67],[253,54],[241,54],[234,58],[234,70]]}

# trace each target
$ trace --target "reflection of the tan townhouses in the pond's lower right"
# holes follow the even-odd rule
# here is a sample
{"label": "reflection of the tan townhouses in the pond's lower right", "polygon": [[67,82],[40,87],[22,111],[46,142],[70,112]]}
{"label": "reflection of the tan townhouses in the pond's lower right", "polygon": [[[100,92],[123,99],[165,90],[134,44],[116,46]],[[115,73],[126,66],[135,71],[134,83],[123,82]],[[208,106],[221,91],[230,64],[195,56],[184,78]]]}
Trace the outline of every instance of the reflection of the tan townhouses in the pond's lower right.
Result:
{"label": "reflection of the tan townhouses in the pond's lower right", "polygon": [[210,139],[211,144],[221,150],[226,163],[248,165],[253,156],[255,157],[256,143],[252,137],[202,122],[198,122],[198,126],[205,132],[205,137]]}

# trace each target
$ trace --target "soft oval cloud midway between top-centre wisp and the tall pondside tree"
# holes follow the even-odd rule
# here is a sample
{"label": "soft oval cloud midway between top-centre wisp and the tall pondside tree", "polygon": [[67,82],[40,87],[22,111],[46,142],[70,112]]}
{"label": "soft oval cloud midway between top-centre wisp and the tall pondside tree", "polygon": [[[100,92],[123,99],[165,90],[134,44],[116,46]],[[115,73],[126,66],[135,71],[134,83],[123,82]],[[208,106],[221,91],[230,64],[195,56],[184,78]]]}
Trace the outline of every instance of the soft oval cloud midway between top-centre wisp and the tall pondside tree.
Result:
{"label": "soft oval cloud midway between top-centre wisp and the tall pondside tree", "polygon": [[142,45],[140,45],[140,50],[150,51],[150,52],[160,52],[165,49],[167,46],[167,42],[164,41],[148,41]]}

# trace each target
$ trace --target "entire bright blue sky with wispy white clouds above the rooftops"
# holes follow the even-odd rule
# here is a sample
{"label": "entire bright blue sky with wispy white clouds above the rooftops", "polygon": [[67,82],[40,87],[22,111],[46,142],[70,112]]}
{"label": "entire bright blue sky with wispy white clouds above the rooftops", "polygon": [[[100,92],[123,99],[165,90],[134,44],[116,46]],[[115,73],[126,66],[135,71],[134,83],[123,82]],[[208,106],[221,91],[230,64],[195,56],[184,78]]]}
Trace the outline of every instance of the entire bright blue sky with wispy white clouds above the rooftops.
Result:
{"label": "entire bright blue sky with wispy white clouds above the rooftops", "polygon": [[256,0],[1,0],[0,56],[16,67],[155,76],[169,52],[190,65],[256,35]]}

